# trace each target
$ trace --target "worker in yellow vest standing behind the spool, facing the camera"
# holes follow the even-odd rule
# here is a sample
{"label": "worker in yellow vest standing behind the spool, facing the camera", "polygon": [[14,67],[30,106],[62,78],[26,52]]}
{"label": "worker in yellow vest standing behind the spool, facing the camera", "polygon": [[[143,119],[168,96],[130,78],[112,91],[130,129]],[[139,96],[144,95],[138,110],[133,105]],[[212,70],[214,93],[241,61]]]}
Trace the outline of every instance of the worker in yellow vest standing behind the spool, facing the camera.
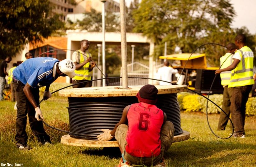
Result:
{"label": "worker in yellow vest standing behind the spool, facing the camera", "polygon": [[72,54],[72,61],[75,63],[75,77],[72,78],[73,88],[91,87],[91,71],[96,65],[88,52],[90,42],[84,39],[80,45],[80,50]]}

